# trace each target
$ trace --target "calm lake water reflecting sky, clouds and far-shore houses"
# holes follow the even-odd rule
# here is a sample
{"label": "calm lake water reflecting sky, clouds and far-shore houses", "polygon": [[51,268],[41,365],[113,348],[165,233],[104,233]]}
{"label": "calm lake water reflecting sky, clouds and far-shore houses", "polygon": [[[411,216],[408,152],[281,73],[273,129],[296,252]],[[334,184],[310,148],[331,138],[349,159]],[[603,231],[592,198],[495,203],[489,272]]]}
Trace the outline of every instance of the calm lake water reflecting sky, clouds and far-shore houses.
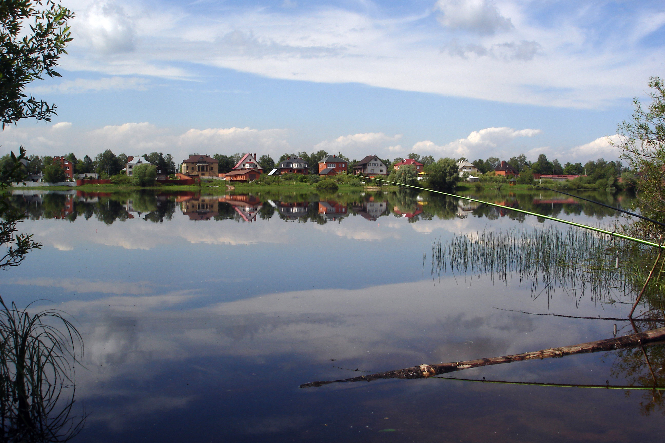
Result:
{"label": "calm lake water reflecting sky, clouds and far-shore houses", "polygon": [[[619,213],[547,192],[475,197],[609,226]],[[585,194],[630,207],[630,195]],[[85,349],[76,442],[632,442],[658,438],[658,393],[387,380],[299,389],[421,363],[632,331],[606,304],[430,270],[432,241],[542,219],[414,193],[85,194],[25,191],[43,242],[0,294],[58,308]],[[547,247],[545,244],[543,247]],[[507,311],[513,310],[513,311]],[[653,365],[660,348],[652,347]],[[654,351],[655,350],[655,351]],[[626,385],[648,367],[606,353],[471,369],[466,379]],[[658,366],[660,365],[660,367]],[[352,371],[358,369],[358,371]]]}

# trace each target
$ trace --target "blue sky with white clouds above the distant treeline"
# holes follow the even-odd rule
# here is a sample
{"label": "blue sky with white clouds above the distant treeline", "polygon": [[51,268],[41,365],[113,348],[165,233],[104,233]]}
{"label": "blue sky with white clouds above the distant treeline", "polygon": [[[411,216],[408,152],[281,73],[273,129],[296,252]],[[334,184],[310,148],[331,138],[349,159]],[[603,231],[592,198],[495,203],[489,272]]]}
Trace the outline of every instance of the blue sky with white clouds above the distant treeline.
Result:
{"label": "blue sky with white clouds above the distant treeline", "polygon": [[649,1],[67,1],[51,124],[3,151],[615,159],[664,75]]}

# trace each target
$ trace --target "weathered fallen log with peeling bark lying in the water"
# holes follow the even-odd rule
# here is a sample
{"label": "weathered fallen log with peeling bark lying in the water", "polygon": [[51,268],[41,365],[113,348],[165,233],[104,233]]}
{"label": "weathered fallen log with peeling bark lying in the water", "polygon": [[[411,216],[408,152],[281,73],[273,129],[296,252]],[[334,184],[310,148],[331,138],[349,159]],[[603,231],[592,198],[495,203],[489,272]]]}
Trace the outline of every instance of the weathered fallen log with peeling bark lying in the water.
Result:
{"label": "weathered fallen log with peeling bark lying in the water", "polygon": [[626,347],[635,347],[665,341],[665,327],[652,329],[650,331],[636,334],[624,335],[623,337],[605,339],[599,341],[590,341],[579,345],[551,347],[541,349],[540,351],[525,352],[515,355],[504,355],[503,357],[491,357],[487,359],[477,359],[468,361],[453,361],[450,363],[441,363],[439,365],[420,365],[406,369],[396,369],[372,375],[361,375],[343,380],[331,381],[313,381],[300,385],[301,388],[319,387],[329,383],[342,383],[345,381],[372,381],[378,379],[426,379],[433,375],[446,374],[462,369],[477,368],[481,366],[500,365],[501,363],[513,363],[513,361],[549,359],[551,357],[565,357],[566,355],[587,354],[601,351],[614,351]]}

